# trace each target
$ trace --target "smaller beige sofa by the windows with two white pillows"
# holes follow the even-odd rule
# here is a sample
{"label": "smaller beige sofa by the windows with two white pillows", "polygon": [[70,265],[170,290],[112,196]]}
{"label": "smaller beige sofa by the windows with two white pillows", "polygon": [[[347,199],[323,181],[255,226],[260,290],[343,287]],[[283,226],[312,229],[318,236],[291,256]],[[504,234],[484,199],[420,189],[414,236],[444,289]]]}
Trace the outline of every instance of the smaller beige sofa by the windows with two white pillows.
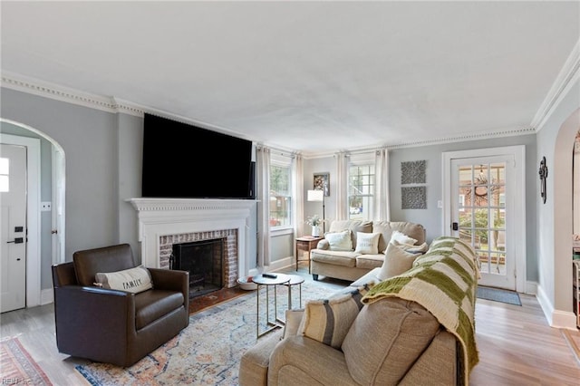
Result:
{"label": "smaller beige sofa by the windows with two white pillows", "polygon": [[[318,280],[318,275],[324,275],[353,281],[369,273],[373,268],[381,267],[384,261],[383,252],[395,230],[416,239],[416,245],[425,243],[425,228],[420,224],[409,222],[336,220],[330,224],[326,235],[344,230],[351,232],[352,250],[333,250],[328,240],[324,238],[316,249],[310,252],[314,280]],[[376,254],[356,252],[358,232],[380,234]]]}

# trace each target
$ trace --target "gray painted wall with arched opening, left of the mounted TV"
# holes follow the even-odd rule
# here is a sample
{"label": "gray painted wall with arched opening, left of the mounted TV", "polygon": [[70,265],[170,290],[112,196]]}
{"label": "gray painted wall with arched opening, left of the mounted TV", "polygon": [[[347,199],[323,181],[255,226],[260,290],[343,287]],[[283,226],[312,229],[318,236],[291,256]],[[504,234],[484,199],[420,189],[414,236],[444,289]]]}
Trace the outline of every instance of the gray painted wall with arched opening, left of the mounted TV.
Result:
{"label": "gray painted wall with arched opening, left of the mounted TV", "polygon": [[[77,250],[129,243],[140,262],[137,212],[127,202],[140,197],[143,120],[0,88],[0,116],[39,130],[56,141],[66,162],[65,259]],[[29,130],[2,131],[37,138]],[[51,144],[42,141],[42,200],[51,201]],[[251,218],[256,218],[256,207]],[[42,289],[52,288],[50,212],[42,217]],[[256,221],[248,231],[256,235]],[[250,256],[256,256],[256,239]],[[256,261],[256,258],[251,261]],[[251,264],[250,264],[251,265]],[[254,263],[255,265],[255,263]],[[251,266],[250,266],[251,267]]]}

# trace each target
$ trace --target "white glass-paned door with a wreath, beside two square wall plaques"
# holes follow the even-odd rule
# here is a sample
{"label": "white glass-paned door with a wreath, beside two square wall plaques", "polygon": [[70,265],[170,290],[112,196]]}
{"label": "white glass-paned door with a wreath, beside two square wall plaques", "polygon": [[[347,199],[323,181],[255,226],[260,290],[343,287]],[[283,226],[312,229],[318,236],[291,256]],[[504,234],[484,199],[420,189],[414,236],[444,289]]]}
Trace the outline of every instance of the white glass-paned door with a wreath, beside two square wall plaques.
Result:
{"label": "white glass-paned door with a wreath, beside two square wall plaques", "polygon": [[517,284],[517,268],[526,264],[523,149],[445,155],[449,168],[446,234],[473,246],[481,273],[478,285],[523,291],[523,282]]}

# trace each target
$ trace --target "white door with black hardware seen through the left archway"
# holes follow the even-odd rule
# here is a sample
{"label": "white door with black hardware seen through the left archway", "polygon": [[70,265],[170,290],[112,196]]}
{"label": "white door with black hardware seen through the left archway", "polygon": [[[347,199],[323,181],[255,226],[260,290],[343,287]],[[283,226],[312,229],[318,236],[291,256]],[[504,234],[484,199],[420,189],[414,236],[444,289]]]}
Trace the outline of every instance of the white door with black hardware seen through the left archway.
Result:
{"label": "white door with black hardware seen through the left archway", "polygon": [[26,305],[26,148],[0,144],[1,312]]}

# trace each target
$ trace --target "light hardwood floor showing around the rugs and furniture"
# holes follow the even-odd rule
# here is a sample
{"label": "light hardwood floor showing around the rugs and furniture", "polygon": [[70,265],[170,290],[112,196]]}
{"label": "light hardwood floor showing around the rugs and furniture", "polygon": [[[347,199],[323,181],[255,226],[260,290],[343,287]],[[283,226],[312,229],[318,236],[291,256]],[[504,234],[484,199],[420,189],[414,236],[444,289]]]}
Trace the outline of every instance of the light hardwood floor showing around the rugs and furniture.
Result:
{"label": "light hardwood floor showing around the rugs and furniture", "polygon": [[[301,266],[298,274],[312,280],[307,267]],[[348,284],[324,278],[319,283],[332,290]],[[520,294],[520,298],[522,306],[478,299],[479,363],[470,384],[580,385],[580,332],[551,328],[535,296]],[[57,352],[53,304],[1,314],[0,336],[15,335],[54,385],[88,384],[74,370],[84,361]]]}

